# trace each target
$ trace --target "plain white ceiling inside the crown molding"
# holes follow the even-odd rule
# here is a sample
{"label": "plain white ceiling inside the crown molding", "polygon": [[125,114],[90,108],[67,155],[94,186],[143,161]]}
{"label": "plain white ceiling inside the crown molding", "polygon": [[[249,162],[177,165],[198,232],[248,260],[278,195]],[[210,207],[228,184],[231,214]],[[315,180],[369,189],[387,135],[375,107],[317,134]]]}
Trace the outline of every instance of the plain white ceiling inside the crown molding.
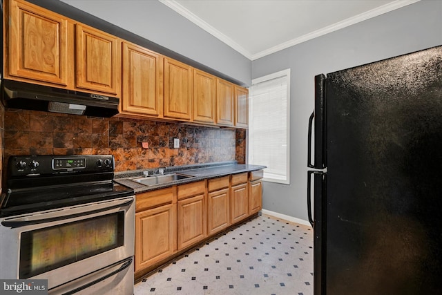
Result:
{"label": "plain white ceiling inside the crown molding", "polygon": [[254,60],[419,0],[160,0]]}

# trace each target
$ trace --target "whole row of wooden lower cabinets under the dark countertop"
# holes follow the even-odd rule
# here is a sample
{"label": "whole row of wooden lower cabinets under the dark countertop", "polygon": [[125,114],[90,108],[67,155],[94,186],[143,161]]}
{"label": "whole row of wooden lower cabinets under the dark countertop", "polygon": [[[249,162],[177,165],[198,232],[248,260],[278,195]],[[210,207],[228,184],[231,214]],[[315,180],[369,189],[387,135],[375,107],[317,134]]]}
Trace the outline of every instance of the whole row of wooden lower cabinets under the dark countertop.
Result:
{"label": "whole row of wooden lower cabinets under the dark countertop", "polygon": [[262,208],[262,172],[137,193],[135,278]]}

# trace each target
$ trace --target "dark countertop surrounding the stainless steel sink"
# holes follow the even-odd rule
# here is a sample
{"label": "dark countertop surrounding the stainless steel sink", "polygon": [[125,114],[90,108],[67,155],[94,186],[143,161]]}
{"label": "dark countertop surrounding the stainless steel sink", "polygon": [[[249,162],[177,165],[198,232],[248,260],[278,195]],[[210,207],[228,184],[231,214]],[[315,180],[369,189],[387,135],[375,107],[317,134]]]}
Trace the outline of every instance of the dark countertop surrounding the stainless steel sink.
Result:
{"label": "dark countertop surrounding the stainless steel sink", "polygon": [[155,169],[144,169],[137,171],[117,172],[115,173],[115,182],[123,184],[126,187],[131,187],[132,189],[135,190],[135,193],[143,193],[146,191],[153,191],[155,189],[163,189],[165,187],[171,187],[177,184],[186,184],[190,182],[197,182],[204,179],[218,178],[224,175],[256,171],[265,168],[266,166],[262,165],[238,164],[236,161],[209,163],[209,164],[196,164],[196,165],[186,165],[186,166],[172,166],[165,168],[164,171],[165,175],[169,173],[182,173],[193,177],[185,178],[182,180],[174,180],[163,184],[153,184],[149,186],[131,180],[131,178],[142,177],[143,171],[155,170]]}

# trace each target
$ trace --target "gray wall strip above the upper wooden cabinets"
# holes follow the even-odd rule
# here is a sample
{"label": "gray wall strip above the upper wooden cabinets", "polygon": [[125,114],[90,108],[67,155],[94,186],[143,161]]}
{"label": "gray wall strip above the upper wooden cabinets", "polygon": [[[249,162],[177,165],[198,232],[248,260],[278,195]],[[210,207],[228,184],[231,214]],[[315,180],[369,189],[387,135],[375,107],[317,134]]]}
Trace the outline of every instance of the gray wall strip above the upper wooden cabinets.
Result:
{"label": "gray wall strip above the upper wooden cabinets", "polygon": [[251,61],[159,1],[61,0],[249,86]]}

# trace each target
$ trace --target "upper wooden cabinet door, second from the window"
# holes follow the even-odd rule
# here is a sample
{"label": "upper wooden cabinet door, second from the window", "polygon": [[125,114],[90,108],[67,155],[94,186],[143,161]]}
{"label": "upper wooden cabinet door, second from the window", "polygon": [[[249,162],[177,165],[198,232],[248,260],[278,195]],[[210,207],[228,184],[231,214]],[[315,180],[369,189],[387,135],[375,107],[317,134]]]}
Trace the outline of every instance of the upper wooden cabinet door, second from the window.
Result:
{"label": "upper wooden cabinet door, second from the window", "polygon": [[217,79],[216,124],[233,126],[233,84]]}

